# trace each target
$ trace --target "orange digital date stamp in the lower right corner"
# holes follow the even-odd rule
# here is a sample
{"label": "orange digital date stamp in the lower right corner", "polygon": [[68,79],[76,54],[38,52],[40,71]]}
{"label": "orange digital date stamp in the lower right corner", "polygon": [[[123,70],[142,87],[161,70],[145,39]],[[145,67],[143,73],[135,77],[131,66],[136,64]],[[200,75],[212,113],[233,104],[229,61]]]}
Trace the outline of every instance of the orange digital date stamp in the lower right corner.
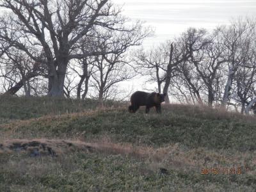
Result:
{"label": "orange digital date stamp in the lower right corner", "polygon": [[202,168],[201,175],[241,175],[240,167],[232,168]]}

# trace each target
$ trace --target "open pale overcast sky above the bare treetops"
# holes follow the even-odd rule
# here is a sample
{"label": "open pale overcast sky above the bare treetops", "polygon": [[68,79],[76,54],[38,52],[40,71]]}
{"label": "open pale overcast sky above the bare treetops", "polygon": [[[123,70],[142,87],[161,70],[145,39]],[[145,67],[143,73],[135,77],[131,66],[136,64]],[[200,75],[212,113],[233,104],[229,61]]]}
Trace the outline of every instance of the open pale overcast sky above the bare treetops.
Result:
{"label": "open pale overcast sky above the bare treetops", "polygon": [[179,35],[185,29],[212,29],[239,16],[256,16],[256,0],[112,0],[124,5],[123,14],[145,20],[156,36],[145,41],[152,46]]}

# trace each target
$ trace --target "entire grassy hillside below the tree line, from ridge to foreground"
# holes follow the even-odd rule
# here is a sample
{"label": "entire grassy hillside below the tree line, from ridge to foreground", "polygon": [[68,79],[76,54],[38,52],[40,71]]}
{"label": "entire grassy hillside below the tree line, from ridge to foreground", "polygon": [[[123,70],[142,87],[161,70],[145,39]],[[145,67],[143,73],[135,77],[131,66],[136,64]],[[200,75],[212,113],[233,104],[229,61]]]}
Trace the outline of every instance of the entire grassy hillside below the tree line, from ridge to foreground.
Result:
{"label": "entire grassy hillside below the tree line, from ridge to foreground", "polygon": [[256,188],[254,117],[182,105],[130,114],[129,104],[93,100],[0,103],[0,191]]}

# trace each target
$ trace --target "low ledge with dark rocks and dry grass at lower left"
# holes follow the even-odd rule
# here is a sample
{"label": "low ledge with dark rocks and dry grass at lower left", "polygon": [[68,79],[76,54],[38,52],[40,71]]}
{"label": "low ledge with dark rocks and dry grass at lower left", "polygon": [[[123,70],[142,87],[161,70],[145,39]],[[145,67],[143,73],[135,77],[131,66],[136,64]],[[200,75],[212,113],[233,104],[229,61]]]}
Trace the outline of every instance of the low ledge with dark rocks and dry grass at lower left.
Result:
{"label": "low ledge with dark rocks and dry grass at lower left", "polygon": [[28,152],[29,156],[65,154],[70,151],[100,152],[104,154],[124,154],[136,158],[155,157],[159,154],[154,152],[153,148],[134,147],[129,143],[113,143],[109,141],[97,141],[95,143],[86,143],[79,140],[5,140],[0,143],[0,152]]}

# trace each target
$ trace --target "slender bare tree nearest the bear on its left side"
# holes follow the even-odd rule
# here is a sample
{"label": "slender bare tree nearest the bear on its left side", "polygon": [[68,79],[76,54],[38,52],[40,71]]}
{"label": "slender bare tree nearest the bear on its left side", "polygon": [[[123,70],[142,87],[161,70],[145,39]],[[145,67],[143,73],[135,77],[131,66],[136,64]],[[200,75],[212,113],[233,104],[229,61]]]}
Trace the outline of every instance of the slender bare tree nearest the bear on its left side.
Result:
{"label": "slender bare tree nearest the bear on its left side", "polygon": [[132,46],[141,45],[142,40],[150,33],[143,33],[141,29],[138,29],[131,33],[106,31],[99,35],[96,46],[101,52],[109,52],[102,56],[95,56],[95,72],[92,74],[93,86],[97,88],[98,99],[102,101],[107,98],[111,93],[111,88],[117,83],[134,77],[129,70],[127,51]]}

